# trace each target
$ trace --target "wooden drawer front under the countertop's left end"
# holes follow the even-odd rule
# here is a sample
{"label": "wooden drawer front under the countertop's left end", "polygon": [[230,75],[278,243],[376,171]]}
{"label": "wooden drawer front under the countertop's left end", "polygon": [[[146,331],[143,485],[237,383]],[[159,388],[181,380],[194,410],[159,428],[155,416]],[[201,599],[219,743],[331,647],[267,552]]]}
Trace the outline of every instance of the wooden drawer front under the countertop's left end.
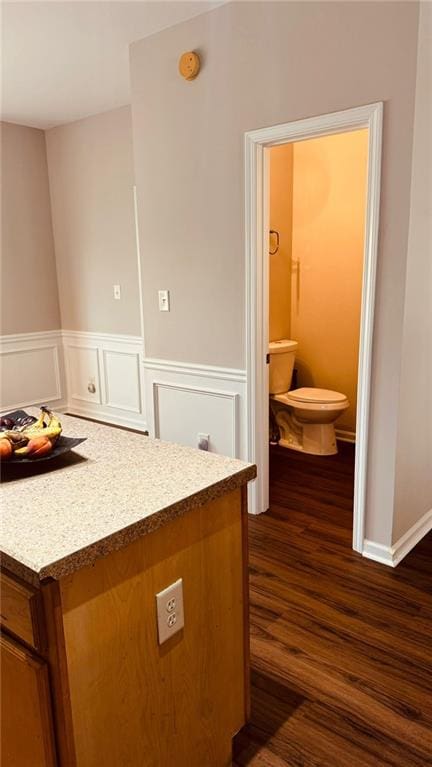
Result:
{"label": "wooden drawer front under the countertop's left end", "polygon": [[0,573],[1,625],[36,650],[45,648],[43,607],[37,589]]}

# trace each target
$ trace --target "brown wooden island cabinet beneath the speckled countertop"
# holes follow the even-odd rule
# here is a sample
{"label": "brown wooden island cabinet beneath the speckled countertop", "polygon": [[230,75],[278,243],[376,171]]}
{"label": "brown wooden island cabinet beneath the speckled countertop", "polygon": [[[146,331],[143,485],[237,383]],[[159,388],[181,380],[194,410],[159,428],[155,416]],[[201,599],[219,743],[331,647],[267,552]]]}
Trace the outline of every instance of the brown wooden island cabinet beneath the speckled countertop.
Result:
{"label": "brown wooden island cabinet beneath the speckled countertop", "polygon": [[[246,524],[239,488],[39,590],[3,574],[4,767],[231,764],[249,700]],[[185,625],[160,646],[155,595],[178,578]]]}

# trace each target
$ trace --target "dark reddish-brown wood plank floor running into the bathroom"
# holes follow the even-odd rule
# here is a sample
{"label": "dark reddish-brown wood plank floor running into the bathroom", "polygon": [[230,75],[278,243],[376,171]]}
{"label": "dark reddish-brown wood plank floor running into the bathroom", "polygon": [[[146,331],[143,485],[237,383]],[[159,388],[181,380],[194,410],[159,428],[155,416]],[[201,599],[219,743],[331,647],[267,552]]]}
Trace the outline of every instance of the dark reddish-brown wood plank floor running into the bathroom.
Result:
{"label": "dark reddish-brown wood plank floor running into the bathroom", "polygon": [[396,568],[351,549],[353,447],[276,447],[250,518],[252,717],[236,767],[432,765],[432,534]]}

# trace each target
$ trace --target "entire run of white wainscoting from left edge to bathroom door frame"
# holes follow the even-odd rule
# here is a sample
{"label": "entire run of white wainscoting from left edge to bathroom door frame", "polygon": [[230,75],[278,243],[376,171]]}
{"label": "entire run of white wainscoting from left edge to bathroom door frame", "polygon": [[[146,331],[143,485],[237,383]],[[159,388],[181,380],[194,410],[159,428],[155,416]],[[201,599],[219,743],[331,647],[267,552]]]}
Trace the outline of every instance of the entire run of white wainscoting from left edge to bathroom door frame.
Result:
{"label": "entire run of white wainscoting from left edge to bathroom door frame", "polygon": [[[209,434],[210,450],[245,459],[246,372],[144,358],[143,349],[140,336],[124,334],[3,336],[2,410],[47,403],[192,446],[198,433]],[[5,375],[9,357],[14,362]],[[14,381],[21,369],[28,386],[20,389]]]}

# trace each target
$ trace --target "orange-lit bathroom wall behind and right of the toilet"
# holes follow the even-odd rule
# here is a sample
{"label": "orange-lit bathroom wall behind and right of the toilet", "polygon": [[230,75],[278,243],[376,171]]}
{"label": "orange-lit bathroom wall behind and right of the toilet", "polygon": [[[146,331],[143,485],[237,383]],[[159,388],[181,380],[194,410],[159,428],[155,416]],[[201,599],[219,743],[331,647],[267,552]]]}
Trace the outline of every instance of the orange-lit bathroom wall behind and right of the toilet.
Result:
{"label": "orange-lit bathroom wall behind and right of the toilet", "polygon": [[345,394],[355,431],[368,132],[294,145],[291,336],[299,386]]}

